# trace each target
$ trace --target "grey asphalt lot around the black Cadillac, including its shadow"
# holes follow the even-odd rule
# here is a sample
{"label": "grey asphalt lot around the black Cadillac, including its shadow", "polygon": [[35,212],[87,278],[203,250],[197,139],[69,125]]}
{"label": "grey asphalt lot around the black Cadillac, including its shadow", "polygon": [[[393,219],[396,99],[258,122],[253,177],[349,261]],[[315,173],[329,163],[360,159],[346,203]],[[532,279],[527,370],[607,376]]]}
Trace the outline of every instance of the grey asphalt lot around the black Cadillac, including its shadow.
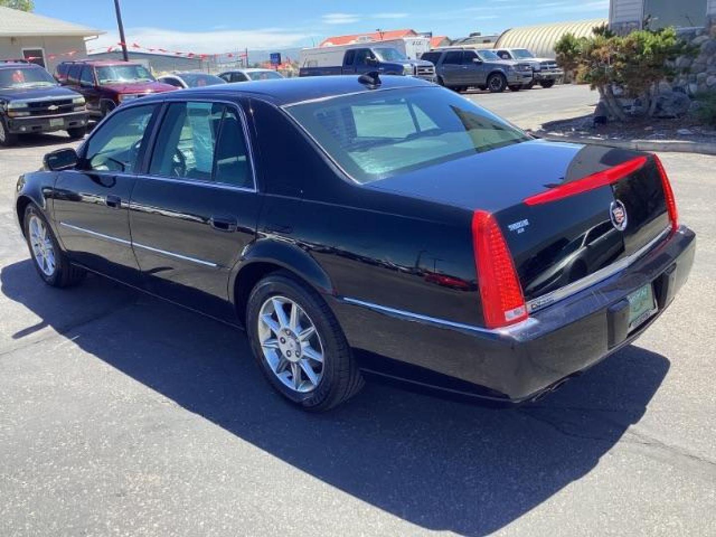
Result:
{"label": "grey asphalt lot around the black Cadillac, including its shadow", "polygon": [[[528,126],[578,91],[470,98]],[[0,536],[716,534],[716,158],[660,155],[692,276],[589,374],[519,410],[368,384],[306,415],[241,332],[99,277],[41,284],[14,184],[65,140],[0,150]]]}

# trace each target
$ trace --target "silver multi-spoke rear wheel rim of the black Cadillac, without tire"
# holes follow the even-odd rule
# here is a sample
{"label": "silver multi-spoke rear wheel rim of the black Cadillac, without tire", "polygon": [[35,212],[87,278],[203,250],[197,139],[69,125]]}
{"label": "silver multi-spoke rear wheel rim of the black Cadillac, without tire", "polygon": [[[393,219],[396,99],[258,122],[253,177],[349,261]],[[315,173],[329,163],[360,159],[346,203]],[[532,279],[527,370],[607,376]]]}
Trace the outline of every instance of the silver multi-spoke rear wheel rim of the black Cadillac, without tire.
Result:
{"label": "silver multi-spoke rear wheel rim of the black Cadillac, without tire", "polygon": [[271,371],[299,393],[316,389],[324,372],[321,337],[301,306],[272,296],[258,314],[258,340]]}

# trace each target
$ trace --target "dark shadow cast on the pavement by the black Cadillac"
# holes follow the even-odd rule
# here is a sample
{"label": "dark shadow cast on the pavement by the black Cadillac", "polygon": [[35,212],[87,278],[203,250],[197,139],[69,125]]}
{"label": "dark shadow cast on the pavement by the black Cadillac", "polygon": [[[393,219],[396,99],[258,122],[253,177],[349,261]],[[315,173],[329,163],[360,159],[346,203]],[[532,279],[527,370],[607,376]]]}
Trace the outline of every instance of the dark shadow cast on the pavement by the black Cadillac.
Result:
{"label": "dark shadow cast on the pavement by the black Cadillac", "polygon": [[[664,357],[632,345],[516,410],[369,383],[343,407],[313,415],[269,388],[236,329],[95,276],[77,289],[50,289],[29,260],[0,276],[3,294],[42,319],[39,329],[52,326],[82,351],[355,498],[422,528],[465,535],[497,531],[589,473],[641,419],[669,369]],[[40,335],[18,327],[14,341]]]}

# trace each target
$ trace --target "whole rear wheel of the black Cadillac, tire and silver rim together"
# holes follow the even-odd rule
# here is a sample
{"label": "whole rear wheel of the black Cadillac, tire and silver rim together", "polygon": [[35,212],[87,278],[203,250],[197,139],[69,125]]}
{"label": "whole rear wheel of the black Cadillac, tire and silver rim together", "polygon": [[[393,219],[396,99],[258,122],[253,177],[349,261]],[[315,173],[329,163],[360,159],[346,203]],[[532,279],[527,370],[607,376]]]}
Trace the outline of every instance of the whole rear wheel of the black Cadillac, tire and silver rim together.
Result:
{"label": "whole rear wheel of the black Cadillac, tire and silver rim together", "polygon": [[330,410],[363,387],[332,311],[319,294],[288,272],[270,274],[253,288],[246,305],[246,332],[264,376],[303,410]]}

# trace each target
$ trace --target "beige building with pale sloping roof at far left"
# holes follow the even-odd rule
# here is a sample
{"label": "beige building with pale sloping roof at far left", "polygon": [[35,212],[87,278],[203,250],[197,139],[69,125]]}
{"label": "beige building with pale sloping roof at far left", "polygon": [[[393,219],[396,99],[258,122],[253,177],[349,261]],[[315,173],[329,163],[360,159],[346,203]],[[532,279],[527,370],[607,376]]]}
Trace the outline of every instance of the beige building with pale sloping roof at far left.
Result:
{"label": "beige building with pale sloping roof at far left", "polygon": [[26,58],[50,72],[59,62],[87,57],[87,40],[100,30],[0,7],[0,59]]}

